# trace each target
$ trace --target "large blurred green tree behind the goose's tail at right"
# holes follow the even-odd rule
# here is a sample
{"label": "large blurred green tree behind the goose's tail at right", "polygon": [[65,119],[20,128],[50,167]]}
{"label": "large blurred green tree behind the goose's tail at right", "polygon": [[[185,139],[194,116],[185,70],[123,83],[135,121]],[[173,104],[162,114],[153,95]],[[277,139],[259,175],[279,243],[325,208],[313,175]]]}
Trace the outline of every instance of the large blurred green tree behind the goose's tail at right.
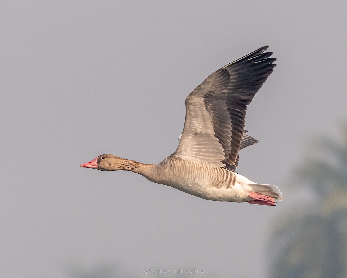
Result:
{"label": "large blurred green tree behind the goose's tail at right", "polygon": [[341,131],[342,142],[311,142],[313,148],[294,172],[296,184],[306,184],[314,200],[291,207],[290,214],[277,219],[272,277],[347,277],[346,124]]}

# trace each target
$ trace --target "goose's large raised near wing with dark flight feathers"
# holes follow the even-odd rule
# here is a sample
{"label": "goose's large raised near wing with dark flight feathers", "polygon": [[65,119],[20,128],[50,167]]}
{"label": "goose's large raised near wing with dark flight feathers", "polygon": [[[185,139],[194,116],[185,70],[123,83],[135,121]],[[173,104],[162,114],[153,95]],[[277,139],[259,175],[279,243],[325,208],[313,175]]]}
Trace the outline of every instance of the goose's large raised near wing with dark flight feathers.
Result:
{"label": "goose's large raised near wing with dark flight feathers", "polygon": [[189,94],[176,156],[235,171],[246,106],[276,66],[267,48],[222,67]]}

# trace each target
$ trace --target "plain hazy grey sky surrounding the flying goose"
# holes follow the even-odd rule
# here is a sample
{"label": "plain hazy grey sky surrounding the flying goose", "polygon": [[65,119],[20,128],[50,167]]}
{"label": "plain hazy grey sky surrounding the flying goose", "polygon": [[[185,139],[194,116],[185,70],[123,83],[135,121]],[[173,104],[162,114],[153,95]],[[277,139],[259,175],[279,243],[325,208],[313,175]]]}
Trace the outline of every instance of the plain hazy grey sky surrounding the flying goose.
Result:
{"label": "plain hazy grey sky surrounding the flying goose", "polygon": [[[346,1],[2,1],[0,276],[65,278],[70,262],[267,277],[274,216],[319,133],[346,119]],[[269,45],[278,66],[248,107],[260,142],[237,172],[280,186],[276,207],[212,202],[130,172],[79,168],[104,153],[173,153],[186,96]],[[288,183],[289,180],[289,183]],[[271,246],[271,245],[270,245]],[[200,277],[200,275],[199,275]]]}

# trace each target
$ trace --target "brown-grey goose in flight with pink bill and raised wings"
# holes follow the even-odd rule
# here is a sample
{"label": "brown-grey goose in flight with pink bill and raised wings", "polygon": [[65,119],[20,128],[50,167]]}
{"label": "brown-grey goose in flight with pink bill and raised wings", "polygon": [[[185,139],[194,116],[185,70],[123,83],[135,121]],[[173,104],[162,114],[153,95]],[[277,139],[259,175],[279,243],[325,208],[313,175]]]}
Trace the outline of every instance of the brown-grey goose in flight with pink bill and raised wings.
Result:
{"label": "brown-grey goose in flight with pink bill and raised wings", "polygon": [[126,170],[211,201],[274,206],[282,201],[275,185],[255,183],[235,172],[238,152],[257,142],[245,133],[247,105],[276,64],[268,47],[227,64],[186,98],[184,129],[176,151],[157,164],[103,154],[80,166]]}

